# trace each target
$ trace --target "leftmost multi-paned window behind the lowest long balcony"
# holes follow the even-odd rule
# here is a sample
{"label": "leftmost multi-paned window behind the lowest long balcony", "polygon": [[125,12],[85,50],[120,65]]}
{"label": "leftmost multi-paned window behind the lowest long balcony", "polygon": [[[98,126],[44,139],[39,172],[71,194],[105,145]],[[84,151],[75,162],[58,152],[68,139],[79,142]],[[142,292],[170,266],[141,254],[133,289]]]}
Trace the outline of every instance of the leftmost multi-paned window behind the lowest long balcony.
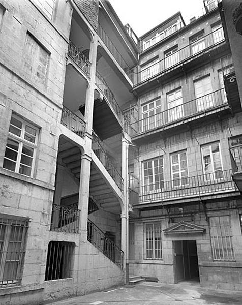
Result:
{"label": "leftmost multi-paned window behind the lowest long balcony", "polygon": [[158,191],[164,187],[163,157],[143,162],[144,191]]}

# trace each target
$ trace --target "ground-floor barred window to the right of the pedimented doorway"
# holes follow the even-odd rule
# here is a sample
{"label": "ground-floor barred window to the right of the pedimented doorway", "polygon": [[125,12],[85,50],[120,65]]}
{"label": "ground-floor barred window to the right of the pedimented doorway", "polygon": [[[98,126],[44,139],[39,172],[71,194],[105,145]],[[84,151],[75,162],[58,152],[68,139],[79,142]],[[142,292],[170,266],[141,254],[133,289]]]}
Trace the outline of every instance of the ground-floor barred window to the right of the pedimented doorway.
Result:
{"label": "ground-floor barred window to the right of the pedimented doorway", "polygon": [[216,261],[234,261],[232,232],[229,216],[209,218],[211,248]]}

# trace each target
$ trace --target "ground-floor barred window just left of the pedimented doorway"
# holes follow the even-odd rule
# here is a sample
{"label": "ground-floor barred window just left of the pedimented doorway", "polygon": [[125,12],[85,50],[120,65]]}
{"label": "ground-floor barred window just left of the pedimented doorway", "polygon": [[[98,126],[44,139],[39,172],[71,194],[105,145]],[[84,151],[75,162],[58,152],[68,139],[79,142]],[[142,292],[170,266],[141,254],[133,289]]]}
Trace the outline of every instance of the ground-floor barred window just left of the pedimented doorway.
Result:
{"label": "ground-floor barred window just left of the pedimented doorway", "polygon": [[162,259],[161,223],[145,224],[146,259]]}

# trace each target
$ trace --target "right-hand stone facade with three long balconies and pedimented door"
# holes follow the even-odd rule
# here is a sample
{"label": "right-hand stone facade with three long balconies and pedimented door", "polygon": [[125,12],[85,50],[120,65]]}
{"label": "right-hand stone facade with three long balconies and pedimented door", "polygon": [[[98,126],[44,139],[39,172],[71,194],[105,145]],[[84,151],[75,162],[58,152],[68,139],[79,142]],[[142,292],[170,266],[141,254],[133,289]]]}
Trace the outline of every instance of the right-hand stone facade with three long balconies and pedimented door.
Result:
{"label": "right-hand stone facade with three long balconies and pedimented door", "polygon": [[188,25],[177,13],[140,38],[129,271],[241,290],[242,113],[220,14],[204,1]]}

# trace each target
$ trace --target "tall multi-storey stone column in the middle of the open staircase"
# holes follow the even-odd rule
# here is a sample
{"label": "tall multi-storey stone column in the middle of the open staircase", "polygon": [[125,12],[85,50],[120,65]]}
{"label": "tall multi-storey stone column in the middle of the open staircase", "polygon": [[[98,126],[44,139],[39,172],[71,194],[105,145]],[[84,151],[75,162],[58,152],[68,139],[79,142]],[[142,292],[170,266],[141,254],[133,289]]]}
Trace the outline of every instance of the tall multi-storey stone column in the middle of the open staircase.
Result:
{"label": "tall multi-storey stone column in the middle of the open staircase", "polygon": [[94,110],[94,90],[95,90],[95,75],[96,75],[96,58],[98,48],[98,36],[94,34],[93,40],[90,43],[89,61],[92,64],[90,67],[90,81],[86,89],[85,100],[85,148],[84,154],[81,156],[81,172],[79,186],[78,208],[80,211],[79,233],[82,242],[87,240],[87,218],[88,218],[88,202],[89,202],[89,186],[90,186],[90,165],[92,162],[92,129],[93,129],[93,110]]}

